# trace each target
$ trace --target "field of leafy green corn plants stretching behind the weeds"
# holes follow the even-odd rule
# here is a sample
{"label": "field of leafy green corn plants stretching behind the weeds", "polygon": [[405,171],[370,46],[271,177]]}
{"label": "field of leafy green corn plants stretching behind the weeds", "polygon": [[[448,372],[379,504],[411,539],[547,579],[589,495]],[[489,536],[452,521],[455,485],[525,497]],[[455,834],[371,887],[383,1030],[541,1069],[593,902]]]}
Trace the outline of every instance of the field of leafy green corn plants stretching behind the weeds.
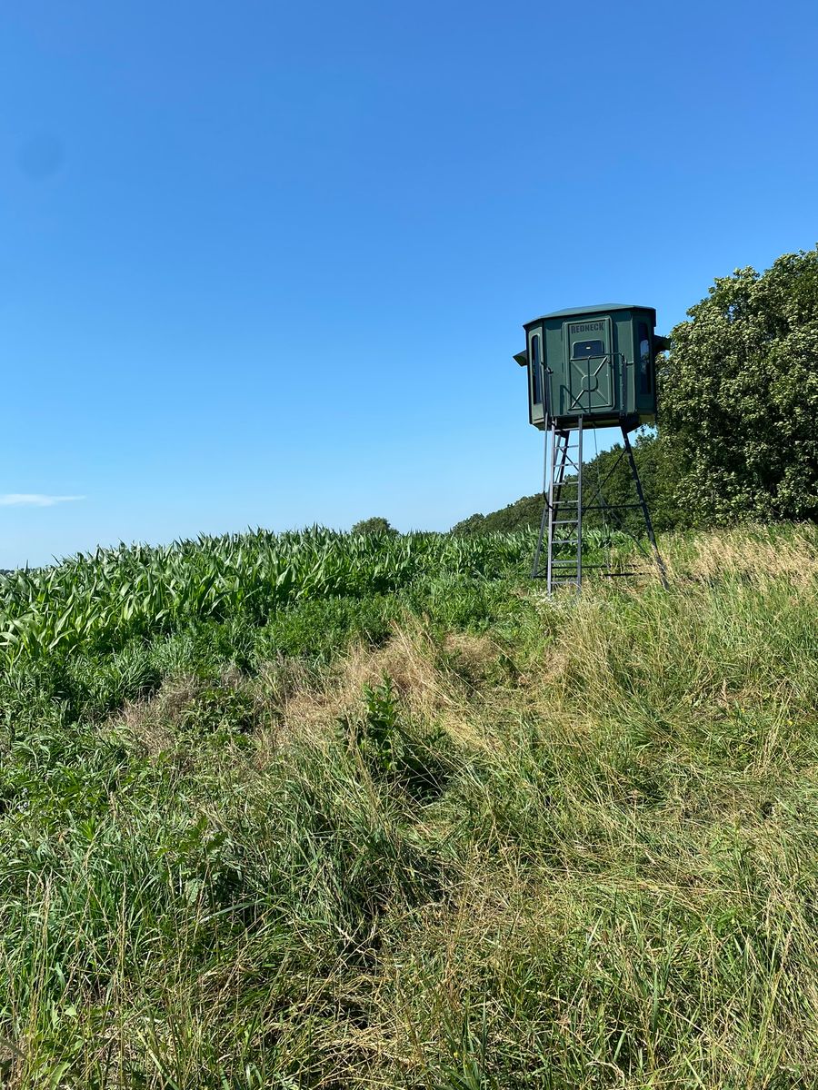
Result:
{"label": "field of leafy green corn plants stretching behind the weeds", "polygon": [[[599,531],[586,541],[589,548],[605,543]],[[264,625],[294,603],[388,594],[423,576],[496,579],[522,570],[534,542],[527,531],[356,536],[315,528],[98,549],[0,578],[1,662],[110,653],[191,620]]]}

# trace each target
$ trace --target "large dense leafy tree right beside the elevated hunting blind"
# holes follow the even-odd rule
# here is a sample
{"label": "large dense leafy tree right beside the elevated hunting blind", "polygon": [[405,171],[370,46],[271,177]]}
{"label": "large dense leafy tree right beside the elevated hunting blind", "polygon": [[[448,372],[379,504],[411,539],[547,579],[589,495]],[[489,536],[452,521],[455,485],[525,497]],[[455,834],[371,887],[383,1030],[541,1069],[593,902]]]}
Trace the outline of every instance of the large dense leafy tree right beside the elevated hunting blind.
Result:
{"label": "large dense leafy tree right beside the elevated hunting blind", "polygon": [[818,247],[736,269],[671,334],[660,427],[698,519],[818,516]]}

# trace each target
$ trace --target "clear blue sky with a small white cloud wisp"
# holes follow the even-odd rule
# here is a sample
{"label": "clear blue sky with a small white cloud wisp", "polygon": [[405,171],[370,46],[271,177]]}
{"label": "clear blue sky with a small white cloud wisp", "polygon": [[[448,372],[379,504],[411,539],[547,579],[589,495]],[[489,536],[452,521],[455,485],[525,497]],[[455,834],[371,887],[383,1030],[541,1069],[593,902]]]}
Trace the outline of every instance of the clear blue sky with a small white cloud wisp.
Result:
{"label": "clear blue sky with a small white cloud wisp", "polygon": [[666,332],[818,241],[817,41],[815,0],[5,0],[0,567],[536,492],[522,322]]}

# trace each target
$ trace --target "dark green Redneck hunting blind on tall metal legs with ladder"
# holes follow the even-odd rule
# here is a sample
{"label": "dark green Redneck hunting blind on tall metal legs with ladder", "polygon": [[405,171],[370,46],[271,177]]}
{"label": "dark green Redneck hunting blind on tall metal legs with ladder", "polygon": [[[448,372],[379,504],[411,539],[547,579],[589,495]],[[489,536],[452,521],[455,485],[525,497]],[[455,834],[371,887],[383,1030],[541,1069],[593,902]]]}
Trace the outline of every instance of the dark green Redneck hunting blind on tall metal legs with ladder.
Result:
{"label": "dark green Redneck hunting blind on tall metal legs with ladder", "polygon": [[[579,592],[584,512],[601,511],[605,520],[610,514],[612,523],[622,526],[623,507],[641,507],[653,556],[665,582],[628,439],[639,425],[655,423],[655,361],[667,348],[667,340],[657,335],[655,324],[652,306],[602,303],[543,314],[522,327],[526,348],[515,360],[528,373],[528,419],[546,433],[548,445],[545,506],[531,573],[548,579],[549,593],[562,583],[574,584]],[[611,426],[622,429],[621,458],[628,460],[638,502],[606,504],[604,482],[600,485],[599,481],[592,496],[582,494],[582,433]],[[613,469],[609,476],[612,473]],[[546,531],[548,567],[541,572]],[[603,568],[605,574],[628,573],[613,572],[608,564],[590,567]]]}

